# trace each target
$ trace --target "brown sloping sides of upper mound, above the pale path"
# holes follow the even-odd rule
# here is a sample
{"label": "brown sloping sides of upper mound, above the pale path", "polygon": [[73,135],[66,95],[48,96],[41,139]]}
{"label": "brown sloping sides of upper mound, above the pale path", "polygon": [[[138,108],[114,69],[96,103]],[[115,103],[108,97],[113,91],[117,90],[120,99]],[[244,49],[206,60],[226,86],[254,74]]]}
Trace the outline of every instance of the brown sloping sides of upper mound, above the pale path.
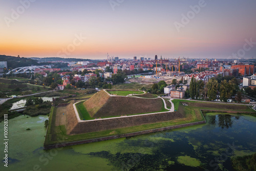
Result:
{"label": "brown sloping sides of upper mound, above the pale path", "polygon": [[[80,105],[79,105],[80,106]],[[109,118],[121,115],[167,112],[162,99],[109,96],[103,90],[84,102],[91,118]],[[83,109],[79,109],[83,111]],[[80,114],[82,116],[82,114]]]}

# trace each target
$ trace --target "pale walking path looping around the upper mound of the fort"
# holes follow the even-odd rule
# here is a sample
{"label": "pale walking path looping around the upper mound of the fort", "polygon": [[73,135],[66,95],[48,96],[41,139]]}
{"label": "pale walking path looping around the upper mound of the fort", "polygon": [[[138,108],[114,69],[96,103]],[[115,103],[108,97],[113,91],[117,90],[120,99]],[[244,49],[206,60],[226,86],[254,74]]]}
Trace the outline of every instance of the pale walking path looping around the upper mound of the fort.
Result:
{"label": "pale walking path looping around the upper mound of the fort", "polygon": [[[105,91],[105,90],[103,90],[103,91]],[[109,94],[107,91],[105,91],[105,92],[106,92],[109,96],[112,96],[112,97],[144,98],[144,97],[137,97],[137,96],[129,96],[129,95],[132,95],[132,94],[129,94],[129,95],[127,95],[127,96],[116,96],[116,95],[111,95],[111,94]],[[143,91],[143,92],[144,92],[144,94],[146,93],[145,91]],[[136,95],[137,95],[137,94],[136,94]],[[156,97],[156,98],[161,98],[161,99],[163,100],[164,109],[168,110],[168,111],[166,111],[166,112],[174,112],[174,103],[172,102],[172,100],[169,100],[172,105],[171,105],[171,109],[168,109],[168,108],[166,107],[165,100],[164,100],[162,97],[158,96],[158,97]],[[156,99],[156,98],[146,98],[146,99]],[[81,101],[82,101],[82,100],[81,100]],[[79,103],[79,102],[81,102],[81,101],[78,101],[78,102],[76,102],[76,103]],[[74,108],[74,110],[75,110],[75,114],[76,114],[76,118],[77,118],[77,121],[78,121],[78,122],[90,122],[90,121],[95,121],[95,120],[106,120],[106,119],[116,119],[116,118],[126,118],[126,117],[135,117],[135,116],[143,116],[143,115],[153,115],[153,114],[159,114],[159,113],[166,113],[166,112],[155,112],[155,113],[147,113],[147,114],[131,115],[131,116],[119,116],[119,117],[102,118],[102,119],[94,119],[94,120],[81,120],[80,117],[79,117],[78,111],[77,111],[77,109],[76,109],[76,103],[73,104],[73,108]]]}

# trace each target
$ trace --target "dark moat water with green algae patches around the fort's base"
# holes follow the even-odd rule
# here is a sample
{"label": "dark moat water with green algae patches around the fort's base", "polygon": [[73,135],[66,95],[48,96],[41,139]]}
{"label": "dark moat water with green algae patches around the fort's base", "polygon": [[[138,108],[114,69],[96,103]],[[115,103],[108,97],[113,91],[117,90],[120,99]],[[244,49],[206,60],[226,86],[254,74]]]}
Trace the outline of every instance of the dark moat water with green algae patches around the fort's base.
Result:
{"label": "dark moat water with green algae patches around the fort's base", "polygon": [[232,170],[231,157],[256,152],[252,116],[207,114],[206,124],[44,151],[46,118],[9,120],[9,164],[0,170]]}

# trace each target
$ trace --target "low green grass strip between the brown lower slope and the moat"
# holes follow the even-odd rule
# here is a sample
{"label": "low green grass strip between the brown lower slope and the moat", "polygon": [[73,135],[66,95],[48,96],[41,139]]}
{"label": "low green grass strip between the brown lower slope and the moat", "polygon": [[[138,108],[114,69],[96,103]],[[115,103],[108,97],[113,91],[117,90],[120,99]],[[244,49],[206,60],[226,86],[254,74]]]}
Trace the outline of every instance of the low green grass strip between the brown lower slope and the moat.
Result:
{"label": "low green grass strip between the brown lower slope and the moat", "polygon": [[[79,140],[86,140],[86,139],[94,139],[100,137],[108,137],[113,135],[121,135],[133,132],[139,132],[144,130],[151,130],[157,129],[160,127],[167,127],[191,122],[197,122],[204,120],[200,109],[211,109],[211,110],[234,110],[234,111],[251,111],[248,106],[245,105],[233,105],[233,104],[219,104],[219,103],[211,103],[210,106],[207,105],[208,103],[204,104],[204,102],[194,102],[194,101],[187,101],[187,100],[173,100],[176,110],[178,112],[174,112],[174,115],[183,115],[183,118],[173,119],[164,122],[158,123],[151,123],[151,124],[143,124],[138,126],[129,126],[129,127],[122,127],[118,129],[109,129],[106,131],[98,131],[98,132],[91,132],[91,133],[82,133],[77,135],[67,135],[65,125],[56,126],[55,130],[52,134],[54,134],[54,139],[46,139],[46,145],[48,144],[55,144],[61,142],[72,142],[72,141],[79,141]],[[187,106],[182,105],[182,103],[188,104]],[[56,113],[56,112],[55,112]],[[53,111],[53,115],[55,114]],[[51,121],[50,121],[51,122]],[[97,126],[97,125],[95,125]],[[114,133],[114,134],[113,134]],[[47,136],[47,138],[51,138]],[[56,138],[60,141],[56,141]]]}

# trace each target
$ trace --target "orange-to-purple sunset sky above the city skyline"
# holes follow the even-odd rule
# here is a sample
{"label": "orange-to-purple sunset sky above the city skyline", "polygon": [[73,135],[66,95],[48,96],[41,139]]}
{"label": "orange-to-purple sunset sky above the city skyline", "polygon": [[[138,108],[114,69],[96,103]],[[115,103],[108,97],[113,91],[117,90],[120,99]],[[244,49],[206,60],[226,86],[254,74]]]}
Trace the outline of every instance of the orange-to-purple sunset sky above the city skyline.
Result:
{"label": "orange-to-purple sunset sky above the city skyline", "polygon": [[[0,0],[0,54],[229,58],[243,52],[245,39],[251,39],[255,43],[240,56],[256,57],[252,0],[30,1]],[[195,13],[190,6],[200,9]],[[175,22],[182,24],[182,14],[190,19],[178,31]]]}

